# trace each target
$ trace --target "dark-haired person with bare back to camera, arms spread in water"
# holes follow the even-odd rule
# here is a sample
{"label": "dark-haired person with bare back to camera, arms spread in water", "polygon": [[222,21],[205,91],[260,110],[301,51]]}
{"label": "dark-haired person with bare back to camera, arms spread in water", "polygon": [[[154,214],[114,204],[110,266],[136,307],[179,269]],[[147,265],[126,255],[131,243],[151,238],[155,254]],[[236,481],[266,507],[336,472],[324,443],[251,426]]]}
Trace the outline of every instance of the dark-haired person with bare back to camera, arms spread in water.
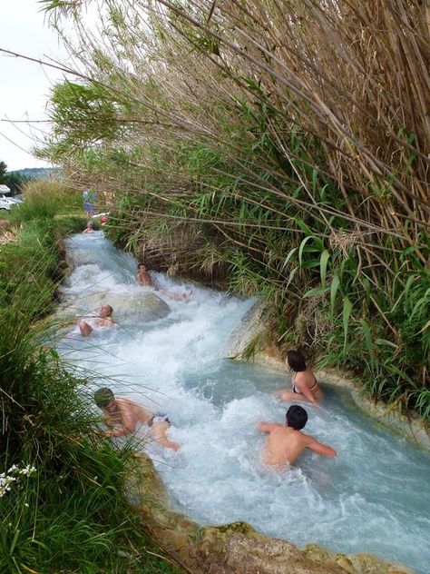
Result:
{"label": "dark-haired person with bare back to camera, arms spread in water", "polygon": [[277,470],[285,470],[288,464],[294,464],[305,449],[313,450],[325,457],[336,457],[337,452],[327,444],[318,442],[308,434],[300,432],[308,421],[308,413],[297,404],[287,411],[287,424],[278,422],[259,422],[258,430],[268,436],[264,447],[263,460]]}

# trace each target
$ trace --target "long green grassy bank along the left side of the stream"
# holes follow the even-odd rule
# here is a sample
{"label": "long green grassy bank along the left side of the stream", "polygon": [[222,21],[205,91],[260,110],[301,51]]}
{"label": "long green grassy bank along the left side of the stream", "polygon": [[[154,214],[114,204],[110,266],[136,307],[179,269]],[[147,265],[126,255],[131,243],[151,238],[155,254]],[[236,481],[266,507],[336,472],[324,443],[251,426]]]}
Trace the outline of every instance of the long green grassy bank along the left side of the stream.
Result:
{"label": "long green grassy bank along the left side of the stream", "polygon": [[0,250],[0,571],[177,573],[125,498],[132,451],[100,435],[85,381],[49,345],[62,238],[85,220],[70,190],[38,185]]}

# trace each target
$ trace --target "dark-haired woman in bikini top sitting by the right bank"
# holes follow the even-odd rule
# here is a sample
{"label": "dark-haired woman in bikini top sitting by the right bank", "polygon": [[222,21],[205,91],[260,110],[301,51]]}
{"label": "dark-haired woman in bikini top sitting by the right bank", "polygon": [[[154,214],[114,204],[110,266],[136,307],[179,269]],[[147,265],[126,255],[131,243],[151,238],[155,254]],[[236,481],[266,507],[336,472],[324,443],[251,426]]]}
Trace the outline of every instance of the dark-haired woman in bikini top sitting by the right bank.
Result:
{"label": "dark-haired woman in bikini top sitting by the right bank", "polygon": [[279,389],[275,396],[282,401],[309,401],[318,404],[323,398],[314,373],[306,366],[305,357],[299,351],[288,351],[285,363],[293,371],[291,390]]}

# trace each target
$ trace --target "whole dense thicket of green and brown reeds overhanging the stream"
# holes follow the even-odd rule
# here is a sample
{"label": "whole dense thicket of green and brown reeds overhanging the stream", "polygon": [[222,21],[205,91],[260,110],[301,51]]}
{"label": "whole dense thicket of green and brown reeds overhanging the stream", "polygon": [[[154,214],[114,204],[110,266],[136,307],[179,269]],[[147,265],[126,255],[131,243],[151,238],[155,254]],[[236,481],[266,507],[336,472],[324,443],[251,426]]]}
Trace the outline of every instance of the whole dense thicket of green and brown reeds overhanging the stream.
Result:
{"label": "whole dense thicket of green and brown reeds overhanging the stream", "polygon": [[[430,418],[425,6],[74,3],[40,154],[152,265],[274,303],[271,336]],[[82,72],[85,70],[85,73]]]}

